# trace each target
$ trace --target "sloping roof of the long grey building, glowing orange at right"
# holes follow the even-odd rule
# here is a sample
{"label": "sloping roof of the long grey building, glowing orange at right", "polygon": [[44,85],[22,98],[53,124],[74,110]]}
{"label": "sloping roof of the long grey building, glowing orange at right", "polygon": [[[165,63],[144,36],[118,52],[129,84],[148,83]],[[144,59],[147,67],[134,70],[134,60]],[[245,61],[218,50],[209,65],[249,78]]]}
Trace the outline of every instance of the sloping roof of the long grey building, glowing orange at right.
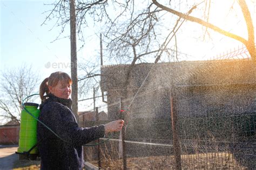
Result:
{"label": "sloping roof of the long grey building, glowing orange at right", "polygon": [[[103,66],[103,91],[121,90],[129,65]],[[147,74],[148,77],[147,77]],[[147,78],[146,78],[147,77]],[[146,80],[145,80],[146,78]],[[131,72],[129,88],[145,89],[161,86],[256,85],[256,66],[251,59],[227,59],[171,63],[136,64]]]}

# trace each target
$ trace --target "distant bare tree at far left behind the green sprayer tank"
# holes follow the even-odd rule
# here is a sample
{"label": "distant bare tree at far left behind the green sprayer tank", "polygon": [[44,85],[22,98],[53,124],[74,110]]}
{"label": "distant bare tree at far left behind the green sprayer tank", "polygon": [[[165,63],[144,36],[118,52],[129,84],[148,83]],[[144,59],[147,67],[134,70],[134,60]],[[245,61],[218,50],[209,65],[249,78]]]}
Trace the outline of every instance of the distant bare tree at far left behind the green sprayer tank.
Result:
{"label": "distant bare tree at far left behind the green sprayer tank", "polygon": [[[23,65],[16,70],[2,72],[0,117],[20,123],[22,101],[38,91],[38,80],[38,74],[33,71],[32,66]],[[32,101],[31,99],[26,101],[28,100]]]}

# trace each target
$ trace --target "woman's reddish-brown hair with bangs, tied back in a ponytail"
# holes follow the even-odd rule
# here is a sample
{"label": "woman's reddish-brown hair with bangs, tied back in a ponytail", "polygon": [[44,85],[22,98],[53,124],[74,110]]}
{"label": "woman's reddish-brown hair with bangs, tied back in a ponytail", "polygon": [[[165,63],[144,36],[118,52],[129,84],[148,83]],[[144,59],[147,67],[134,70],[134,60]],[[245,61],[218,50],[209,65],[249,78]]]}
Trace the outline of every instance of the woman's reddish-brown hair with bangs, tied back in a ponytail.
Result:
{"label": "woman's reddish-brown hair with bangs, tied back in a ponytail", "polygon": [[[57,71],[54,73],[51,73],[50,77],[45,78],[43,82],[40,85],[40,98],[44,101],[47,97],[47,95],[50,93],[49,92],[49,86],[55,87],[59,81],[63,81],[65,83],[72,84],[72,80],[69,76],[69,74]],[[46,93],[46,96],[44,96],[44,93]]]}

